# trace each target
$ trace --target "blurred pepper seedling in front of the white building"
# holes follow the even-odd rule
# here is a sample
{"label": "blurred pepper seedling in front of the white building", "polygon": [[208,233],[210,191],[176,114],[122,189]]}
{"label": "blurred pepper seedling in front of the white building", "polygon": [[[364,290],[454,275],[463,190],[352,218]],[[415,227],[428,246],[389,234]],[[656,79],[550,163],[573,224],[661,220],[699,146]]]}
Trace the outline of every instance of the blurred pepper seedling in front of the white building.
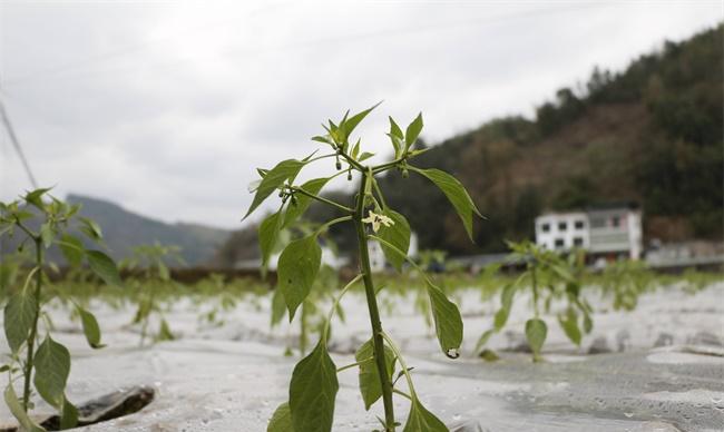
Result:
{"label": "blurred pepper seedling in front of the white building", "polygon": [[[556,252],[546,251],[530,242],[508,245],[512,249],[509,259],[525,263],[526,271],[503,286],[500,294],[501,306],[496,313],[493,327],[480,336],[476,350],[482,350],[490,336],[505,327],[516,293],[526,286],[531,292],[534,316],[526,321],[525,331],[534,361],[542,360],[540,352],[548,335],[548,325],[541,318],[541,310],[549,312],[551,302],[557,298],[564,297],[567,301],[565,312],[558,313],[558,324],[574,344],[580,345],[583,334],[590,333],[594,326],[591,307],[580,296],[583,256],[573,253],[566,261]],[[490,353],[489,350],[482,351],[483,357],[490,357]]]}

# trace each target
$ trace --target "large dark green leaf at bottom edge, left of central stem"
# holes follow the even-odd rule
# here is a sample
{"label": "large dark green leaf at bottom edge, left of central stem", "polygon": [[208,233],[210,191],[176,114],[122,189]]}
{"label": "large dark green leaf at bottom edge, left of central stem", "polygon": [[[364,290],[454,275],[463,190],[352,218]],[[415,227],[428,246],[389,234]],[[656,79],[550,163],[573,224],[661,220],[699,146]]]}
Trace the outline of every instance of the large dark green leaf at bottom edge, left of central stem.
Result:
{"label": "large dark green leaf at bottom edge, left of central stem", "polygon": [[294,367],[290,384],[290,410],[295,431],[329,432],[334,420],[334,399],[340,384],[336,366],[320,341]]}

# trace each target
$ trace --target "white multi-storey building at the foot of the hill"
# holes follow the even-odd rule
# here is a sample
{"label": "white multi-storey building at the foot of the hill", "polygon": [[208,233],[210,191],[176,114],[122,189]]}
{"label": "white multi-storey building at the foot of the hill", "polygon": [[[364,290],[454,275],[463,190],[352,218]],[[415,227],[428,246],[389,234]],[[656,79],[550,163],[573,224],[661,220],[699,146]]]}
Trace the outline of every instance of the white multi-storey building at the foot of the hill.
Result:
{"label": "white multi-storey building at the foot of the hill", "polygon": [[642,214],[632,206],[548,213],[536,218],[536,244],[548,249],[581,247],[591,255],[627,255],[639,259],[643,252]]}

